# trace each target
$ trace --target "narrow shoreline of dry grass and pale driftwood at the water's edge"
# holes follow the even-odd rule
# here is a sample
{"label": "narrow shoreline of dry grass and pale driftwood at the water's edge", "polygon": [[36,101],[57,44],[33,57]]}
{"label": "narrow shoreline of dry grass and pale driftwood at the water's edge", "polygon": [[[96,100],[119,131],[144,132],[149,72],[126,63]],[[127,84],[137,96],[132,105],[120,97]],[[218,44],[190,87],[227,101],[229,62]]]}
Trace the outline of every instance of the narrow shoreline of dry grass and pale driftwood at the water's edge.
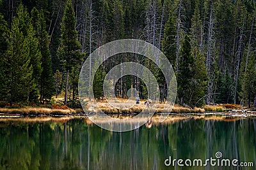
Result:
{"label": "narrow shoreline of dry grass and pale driftwood at the water's edge", "polygon": [[[100,105],[100,110],[113,117],[133,117],[140,113],[144,108],[138,106],[137,108],[130,108],[130,110],[116,110]],[[155,115],[161,115],[163,108],[157,108]],[[15,117],[87,117],[88,113],[99,113],[99,110],[86,110],[81,108],[44,108],[44,107],[24,107],[24,108],[0,108],[0,118],[15,118]],[[204,106],[204,108],[187,108],[184,106],[173,106],[172,111],[168,112],[170,115],[178,116],[202,116],[202,115],[217,115],[217,116],[256,116],[256,110],[248,110],[241,108],[225,108],[223,106]]]}

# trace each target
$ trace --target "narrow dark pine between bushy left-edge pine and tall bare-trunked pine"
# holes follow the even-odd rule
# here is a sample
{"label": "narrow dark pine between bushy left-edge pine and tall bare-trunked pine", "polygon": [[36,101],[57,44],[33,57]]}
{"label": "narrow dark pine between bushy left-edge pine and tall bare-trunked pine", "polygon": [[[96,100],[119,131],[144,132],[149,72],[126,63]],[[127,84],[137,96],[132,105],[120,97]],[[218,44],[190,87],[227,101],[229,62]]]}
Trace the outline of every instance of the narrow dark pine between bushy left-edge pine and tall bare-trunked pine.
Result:
{"label": "narrow dark pine between bushy left-edge pine and tall bare-trunked pine", "polygon": [[42,55],[42,74],[40,76],[40,101],[44,103],[45,99],[51,99],[54,92],[54,82],[52,78],[51,54],[49,50],[49,36],[46,31],[44,13],[38,12],[36,8],[31,11],[32,23],[36,29],[38,48]]}

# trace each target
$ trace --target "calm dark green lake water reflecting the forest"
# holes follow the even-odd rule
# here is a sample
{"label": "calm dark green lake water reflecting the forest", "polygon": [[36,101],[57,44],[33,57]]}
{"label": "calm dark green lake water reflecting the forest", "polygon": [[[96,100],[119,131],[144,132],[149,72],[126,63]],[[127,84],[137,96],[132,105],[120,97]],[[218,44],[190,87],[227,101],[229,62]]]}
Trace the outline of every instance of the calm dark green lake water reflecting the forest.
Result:
{"label": "calm dark green lake water reflecting the forest", "polygon": [[[0,121],[0,169],[256,169],[256,119],[190,118],[129,132],[86,122]],[[204,166],[211,157],[216,166]],[[177,161],[169,166],[170,158],[172,163],[183,159],[182,164],[201,159],[203,167],[181,167]],[[253,167],[217,166],[222,159],[253,162]]]}

